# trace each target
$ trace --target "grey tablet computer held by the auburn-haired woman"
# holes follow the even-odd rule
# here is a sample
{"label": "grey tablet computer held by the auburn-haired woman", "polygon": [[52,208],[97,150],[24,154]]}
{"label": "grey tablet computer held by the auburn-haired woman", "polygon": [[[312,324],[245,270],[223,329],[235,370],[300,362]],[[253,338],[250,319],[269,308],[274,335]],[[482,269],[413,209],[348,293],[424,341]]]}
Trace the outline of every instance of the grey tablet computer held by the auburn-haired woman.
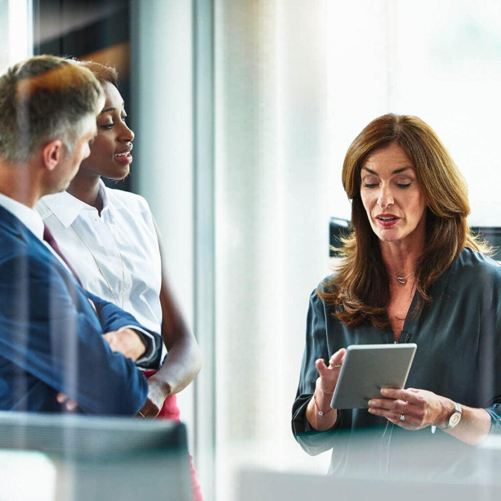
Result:
{"label": "grey tablet computer held by the auburn-haired woman", "polygon": [[370,398],[384,398],[381,388],[403,388],[415,352],[415,343],[348,346],[331,407],[368,408]]}

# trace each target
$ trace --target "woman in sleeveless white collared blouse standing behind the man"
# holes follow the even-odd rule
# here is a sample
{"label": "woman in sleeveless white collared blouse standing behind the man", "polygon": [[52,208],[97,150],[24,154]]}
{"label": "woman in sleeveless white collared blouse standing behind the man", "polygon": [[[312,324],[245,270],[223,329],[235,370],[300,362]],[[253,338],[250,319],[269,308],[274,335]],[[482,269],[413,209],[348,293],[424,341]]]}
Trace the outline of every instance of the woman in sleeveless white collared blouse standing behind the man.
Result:
{"label": "woman in sleeveless white collared blouse standing behind the man", "polygon": [[[98,133],[68,190],[44,197],[37,209],[89,291],[161,332],[167,356],[156,373],[146,374],[149,394],[141,414],[179,419],[175,394],[199,372],[200,351],[169,291],[146,200],[107,188],[101,180],[124,179],[132,163],[134,133],[126,124],[117,72],[94,62],[80,64],[96,75],[105,91]],[[113,340],[110,345],[113,349]],[[117,347],[122,353],[127,349],[137,347]],[[201,499],[195,487],[195,499]]]}

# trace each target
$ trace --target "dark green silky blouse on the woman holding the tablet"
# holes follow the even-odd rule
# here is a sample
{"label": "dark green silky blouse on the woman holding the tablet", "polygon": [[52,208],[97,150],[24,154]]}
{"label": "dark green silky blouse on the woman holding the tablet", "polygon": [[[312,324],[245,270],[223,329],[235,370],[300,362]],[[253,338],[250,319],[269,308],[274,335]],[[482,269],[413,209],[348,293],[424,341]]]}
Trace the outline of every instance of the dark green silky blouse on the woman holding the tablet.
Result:
{"label": "dark green silky blouse on the woman holding the tablet", "polygon": [[[463,405],[484,408],[491,416],[490,433],[501,433],[501,266],[465,248],[432,285],[430,294],[432,305],[408,318],[400,336],[399,342],[417,344],[406,387],[429,390]],[[409,311],[415,301],[416,297]],[[333,449],[331,472],[346,468],[350,458],[346,437],[352,437],[356,431],[363,430],[367,450],[372,443],[375,455],[369,454],[371,461],[380,455],[382,447],[386,450],[390,446],[386,443],[388,435],[405,433],[416,440],[418,434],[426,432],[426,438],[431,437],[430,428],[417,432],[390,424],[388,430],[388,421],[369,414],[367,409],[338,411],[337,422],[330,430],[319,432],[310,426],[305,412],[318,377],[315,360],[328,361],[334,352],[351,344],[394,342],[389,327],[347,328],[332,312],[333,308],[326,306],[314,291],[292,418],[294,436],[307,452],[318,454]],[[367,434],[369,430],[371,433]],[[381,438],[383,434],[385,438]],[[440,435],[449,444],[459,442],[439,430],[434,440],[442,440]],[[341,442],[343,445],[337,447]]]}

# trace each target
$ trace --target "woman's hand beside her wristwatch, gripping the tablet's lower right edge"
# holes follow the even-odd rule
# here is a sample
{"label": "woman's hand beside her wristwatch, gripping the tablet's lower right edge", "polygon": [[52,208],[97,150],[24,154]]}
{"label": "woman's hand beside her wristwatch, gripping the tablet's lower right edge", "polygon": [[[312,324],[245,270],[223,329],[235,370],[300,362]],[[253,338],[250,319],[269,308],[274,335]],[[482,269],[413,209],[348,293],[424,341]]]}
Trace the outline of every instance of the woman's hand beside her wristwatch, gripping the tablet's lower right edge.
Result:
{"label": "woman's hand beside her wristwatch, gripping the tablet's lower right edge", "polygon": [[386,398],[369,400],[369,412],[408,430],[443,428],[454,412],[452,400],[427,390],[383,388],[381,395]]}

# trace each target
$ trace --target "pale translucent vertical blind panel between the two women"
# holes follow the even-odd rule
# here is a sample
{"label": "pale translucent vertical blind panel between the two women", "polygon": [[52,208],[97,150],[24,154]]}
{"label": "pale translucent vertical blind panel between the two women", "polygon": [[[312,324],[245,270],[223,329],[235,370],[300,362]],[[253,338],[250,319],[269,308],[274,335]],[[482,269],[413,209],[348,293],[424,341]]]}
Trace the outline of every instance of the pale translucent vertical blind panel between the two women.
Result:
{"label": "pale translucent vertical blind panel between the two women", "polygon": [[215,5],[217,498],[236,499],[242,464],[327,468],[290,431],[329,273],[326,24],[321,1]]}

